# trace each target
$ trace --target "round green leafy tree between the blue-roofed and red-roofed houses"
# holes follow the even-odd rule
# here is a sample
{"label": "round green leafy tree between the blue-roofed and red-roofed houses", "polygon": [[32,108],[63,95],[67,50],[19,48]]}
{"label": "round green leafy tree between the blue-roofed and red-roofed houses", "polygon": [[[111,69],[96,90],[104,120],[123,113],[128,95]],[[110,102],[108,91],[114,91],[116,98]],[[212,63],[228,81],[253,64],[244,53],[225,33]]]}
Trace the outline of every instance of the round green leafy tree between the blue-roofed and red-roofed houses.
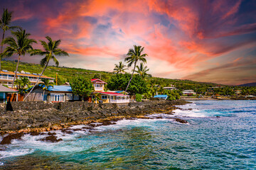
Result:
{"label": "round green leafy tree between the blue-roofed and red-roofed houses", "polygon": [[70,86],[75,95],[82,96],[82,100],[90,96],[93,91],[90,79],[86,79],[85,77],[73,77],[73,79],[70,80]]}

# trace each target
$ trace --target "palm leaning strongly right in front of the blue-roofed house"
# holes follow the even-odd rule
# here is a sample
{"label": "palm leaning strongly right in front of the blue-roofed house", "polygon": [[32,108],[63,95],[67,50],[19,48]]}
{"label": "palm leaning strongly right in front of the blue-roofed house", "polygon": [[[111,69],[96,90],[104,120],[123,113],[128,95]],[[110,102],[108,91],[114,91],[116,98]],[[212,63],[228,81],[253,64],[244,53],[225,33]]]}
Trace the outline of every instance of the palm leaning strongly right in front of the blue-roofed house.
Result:
{"label": "palm leaning strongly right in front of the blue-roofed house", "polygon": [[[60,48],[58,48],[58,46],[60,45],[61,40],[52,40],[50,37],[46,37],[46,39],[48,40],[48,42],[45,42],[43,40],[39,40],[41,42],[41,45],[43,46],[43,50],[33,50],[33,52],[31,52],[31,55],[45,55],[46,57],[44,57],[40,64],[43,68],[43,71],[41,72],[40,76],[38,77],[38,79],[36,80],[36,84],[35,86],[38,84],[39,79],[41,78],[41,76],[43,75],[43,72],[46,70],[46,67],[48,66],[48,63],[50,62],[50,60],[53,60],[53,62],[55,62],[55,65],[58,66],[59,62],[58,60],[55,58],[54,55],[58,55],[58,56],[69,56],[68,52],[65,52],[64,50],[61,50]],[[29,94],[24,98],[23,101],[26,100],[26,98],[31,94],[31,92],[33,91],[33,89],[35,88],[35,86],[33,86],[33,88],[31,89],[31,91],[29,92]]]}

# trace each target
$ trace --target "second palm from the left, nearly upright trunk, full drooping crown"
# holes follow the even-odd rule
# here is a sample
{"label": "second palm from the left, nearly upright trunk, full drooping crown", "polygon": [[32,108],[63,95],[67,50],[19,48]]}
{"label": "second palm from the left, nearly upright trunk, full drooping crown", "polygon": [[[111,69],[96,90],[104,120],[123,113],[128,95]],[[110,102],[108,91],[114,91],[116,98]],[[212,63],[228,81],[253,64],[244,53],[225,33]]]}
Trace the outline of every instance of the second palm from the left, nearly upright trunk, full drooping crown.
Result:
{"label": "second palm from the left, nearly upright trunk, full drooping crown", "polygon": [[[13,37],[8,37],[4,39],[4,44],[7,44],[9,46],[6,47],[4,50],[3,54],[1,57],[11,57],[12,55],[16,54],[18,55],[18,62],[16,65],[16,72],[14,75],[14,81],[17,76],[17,71],[18,71],[18,63],[21,60],[21,55],[25,55],[28,52],[31,52],[33,50],[32,44],[36,40],[28,38],[30,33],[26,33],[26,30],[23,30],[22,28],[19,28],[17,31],[11,31],[11,34],[14,35],[16,40]],[[11,85],[11,88],[14,87],[14,81],[13,84]]]}

